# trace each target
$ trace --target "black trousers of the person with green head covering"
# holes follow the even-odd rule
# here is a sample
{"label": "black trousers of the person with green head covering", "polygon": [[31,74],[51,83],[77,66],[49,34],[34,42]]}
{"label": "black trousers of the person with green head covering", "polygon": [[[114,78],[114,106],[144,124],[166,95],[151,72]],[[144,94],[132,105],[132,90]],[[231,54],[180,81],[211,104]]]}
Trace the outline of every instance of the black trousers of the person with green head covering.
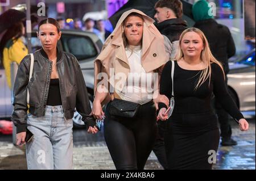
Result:
{"label": "black trousers of the person with green head covering", "polygon": [[[225,75],[226,86],[228,87],[228,77]],[[222,108],[221,104],[215,100],[215,111],[218,116],[218,123],[220,124],[220,136],[222,138],[230,138],[232,135],[232,128],[229,123],[229,114]]]}

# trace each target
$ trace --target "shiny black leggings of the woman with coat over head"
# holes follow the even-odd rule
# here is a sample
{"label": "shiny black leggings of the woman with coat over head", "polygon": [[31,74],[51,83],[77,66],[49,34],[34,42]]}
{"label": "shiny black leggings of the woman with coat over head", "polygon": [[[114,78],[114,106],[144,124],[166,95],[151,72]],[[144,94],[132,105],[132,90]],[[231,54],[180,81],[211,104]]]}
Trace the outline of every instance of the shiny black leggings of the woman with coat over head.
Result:
{"label": "shiny black leggings of the woman with coat over head", "polygon": [[115,168],[142,170],[155,144],[156,110],[154,103],[143,104],[132,119],[105,110],[104,137]]}

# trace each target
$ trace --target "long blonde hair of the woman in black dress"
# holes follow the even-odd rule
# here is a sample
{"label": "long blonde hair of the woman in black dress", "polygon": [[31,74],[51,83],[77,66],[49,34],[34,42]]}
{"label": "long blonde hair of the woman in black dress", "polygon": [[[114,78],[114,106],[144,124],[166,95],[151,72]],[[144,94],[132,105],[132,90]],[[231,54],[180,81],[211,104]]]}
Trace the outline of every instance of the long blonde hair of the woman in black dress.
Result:
{"label": "long blonde hair of the woman in black dress", "polygon": [[177,55],[176,55],[175,59],[180,60],[181,58],[184,57],[183,51],[181,50],[181,40],[183,39],[185,33],[187,33],[187,32],[197,33],[197,35],[199,35],[201,37],[201,39],[203,40],[203,45],[204,45],[204,49],[201,51],[200,59],[201,59],[201,61],[204,62],[204,67],[206,67],[206,69],[202,70],[200,77],[199,77],[199,81],[195,87],[195,90],[197,88],[199,88],[205,81],[207,81],[208,77],[209,77],[209,85],[210,85],[210,75],[212,73],[212,68],[211,68],[210,64],[212,64],[212,63],[216,63],[218,66],[220,66],[222,73],[224,75],[224,78],[225,78],[224,69],[222,68],[221,63],[219,61],[217,61],[216,58],[213,56],[212,52],[210,52],[208,40],[205,37],[204,33],[201,30],[199,30],[198,28],[188,28],[187,30],[184,30],[181,33],[180,40],[179,40],[179,49],[177,50]]}

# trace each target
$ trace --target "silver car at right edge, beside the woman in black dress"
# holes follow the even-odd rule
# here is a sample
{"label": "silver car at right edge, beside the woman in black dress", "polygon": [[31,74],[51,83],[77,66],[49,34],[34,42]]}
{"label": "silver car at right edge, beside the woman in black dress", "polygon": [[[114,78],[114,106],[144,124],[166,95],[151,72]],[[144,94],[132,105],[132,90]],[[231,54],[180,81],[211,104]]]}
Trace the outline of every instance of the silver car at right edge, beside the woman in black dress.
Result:
{"label": "silver car at right edge, beside the woman in black dress", "polygon": [[230,63],[228,90],[241,111],[255,112],[255,48]]}

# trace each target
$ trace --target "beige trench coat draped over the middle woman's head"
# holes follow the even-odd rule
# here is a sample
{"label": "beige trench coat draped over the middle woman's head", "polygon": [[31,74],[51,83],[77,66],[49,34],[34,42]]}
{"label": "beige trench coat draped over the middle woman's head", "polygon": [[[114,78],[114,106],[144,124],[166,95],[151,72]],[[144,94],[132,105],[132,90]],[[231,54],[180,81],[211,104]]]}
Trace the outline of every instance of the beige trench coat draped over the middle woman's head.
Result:
{"label": "beige trench coat draped over the middle woman's head", "polygon": [[[142,66],[144,70],[152,72],[166,64],[168,57],[164,48],[164,37],[154,26],[154,20],[139,10],[129,10],[123,13],[112,34],[106,39],[101,53],[94,61],[94,95],[98,82],[98,73],[108,74],[108,83],[110,86],[125,85],[126,78],[130,72],[129,62],[127,60],[125,47],[122,39],[122,22],[131,12],[137,12],[143,16],[143,39],[142,39]],[[115,79],[110,81],[110,68],[114,68],[114,74],[124,73],[125,79]],[[113,85],[114,84],[114,85]],[[115,86],[115,91],[122,91],[123,86]],[[108,87],[109,90],[109,87]]]}

